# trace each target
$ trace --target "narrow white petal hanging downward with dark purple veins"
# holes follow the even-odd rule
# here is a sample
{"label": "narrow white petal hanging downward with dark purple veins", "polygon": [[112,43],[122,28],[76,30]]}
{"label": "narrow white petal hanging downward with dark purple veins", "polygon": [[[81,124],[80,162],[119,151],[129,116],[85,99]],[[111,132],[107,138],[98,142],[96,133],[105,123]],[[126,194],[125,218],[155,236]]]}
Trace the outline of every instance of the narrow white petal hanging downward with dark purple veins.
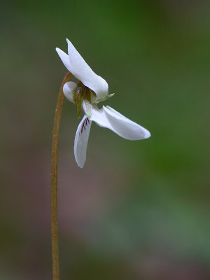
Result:
{"label": "narrow white petal hanging downward with dark purple veins", "polygon": [[87,116],[83,117],[76,130],[74,139],[74,156],[80,168],[83,168],[86,160],[87,142],[90,134],[92,121],[88,120]]}

